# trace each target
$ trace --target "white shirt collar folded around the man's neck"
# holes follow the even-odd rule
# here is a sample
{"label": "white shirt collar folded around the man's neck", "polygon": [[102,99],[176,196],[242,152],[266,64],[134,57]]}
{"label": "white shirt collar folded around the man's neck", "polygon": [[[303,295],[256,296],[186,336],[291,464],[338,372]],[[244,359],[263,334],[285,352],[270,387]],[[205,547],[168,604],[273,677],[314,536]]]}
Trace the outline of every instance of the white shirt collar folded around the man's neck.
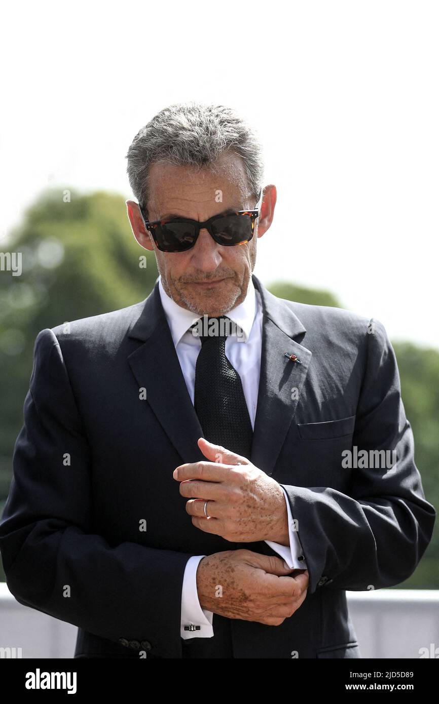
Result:
{"label": "white shirt collar folded around the man's neck", "polygon": [[[161,305],[166,315],[166,320],[168,321],[169,329],[171,330],[171,335],[173,339],[174,346],[176,347],[180,340],[182,339],[187,329],[199,320],[200,316],[192,313],[192,310],[187,310],[182,308],[175,303],[173,298],[168,296],[165,289],[163,289],[163,284],[161,283],[161,276],[159,276],[159,293],[161,298]],[[254,316],[256,315],[256,290],[252,282],[252,277],[250,277],[249,285],[247,288],[247,296],[245,296],[244,301],[240,303],[232,310],[229,310],[227,317],[236,325],[242,328],[245,338],[244,341],[247,342],[249,339],[250,330],[252,329]]]}

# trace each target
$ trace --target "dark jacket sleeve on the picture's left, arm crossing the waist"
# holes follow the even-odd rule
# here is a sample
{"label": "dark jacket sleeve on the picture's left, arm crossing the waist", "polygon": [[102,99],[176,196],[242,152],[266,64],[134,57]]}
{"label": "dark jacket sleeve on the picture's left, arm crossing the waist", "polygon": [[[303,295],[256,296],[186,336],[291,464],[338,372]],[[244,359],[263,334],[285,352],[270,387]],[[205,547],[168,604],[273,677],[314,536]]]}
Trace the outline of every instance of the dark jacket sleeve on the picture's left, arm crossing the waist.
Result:
{"label": "dark jacket sleeve on the picture's left, arm crossing the waist", "polygon": [[35,341],[0,522],[8,588],[19,603],[92,634],[124,644],[148,641],[152,654],[180,658],[183,576],[191,555],[128,541],[112,546],[94,534],[91,474],[61,347],[44,329]]}

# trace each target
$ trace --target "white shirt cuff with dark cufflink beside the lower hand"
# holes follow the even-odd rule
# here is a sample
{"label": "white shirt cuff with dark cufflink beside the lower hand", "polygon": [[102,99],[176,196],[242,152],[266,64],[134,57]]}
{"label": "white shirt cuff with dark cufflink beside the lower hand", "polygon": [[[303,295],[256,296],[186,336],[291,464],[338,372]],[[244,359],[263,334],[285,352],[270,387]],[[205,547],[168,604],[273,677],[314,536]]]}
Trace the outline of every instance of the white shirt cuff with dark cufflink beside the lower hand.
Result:
{"label": "white shirt cuff with dark cufflink beside the lower hand", "polygon": [[[202,609],[197,592],[197,568],[206,555],[192,555],[186,563],[181,594],[180,635],[183,639],[211,638],[214,635],[212,621],[214,612]],[[185,631],[185,626],[199,626],[197,631]]]}

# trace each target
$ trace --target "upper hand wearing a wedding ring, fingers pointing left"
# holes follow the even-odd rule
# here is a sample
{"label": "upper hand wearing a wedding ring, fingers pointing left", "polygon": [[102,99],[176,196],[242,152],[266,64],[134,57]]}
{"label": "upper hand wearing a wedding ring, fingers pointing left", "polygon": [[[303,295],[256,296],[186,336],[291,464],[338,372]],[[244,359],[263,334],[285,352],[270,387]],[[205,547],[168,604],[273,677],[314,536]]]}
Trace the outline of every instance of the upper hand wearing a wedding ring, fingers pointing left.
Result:
{"label": "upper hand wearing a wedding ring, fingers pointing left", "polygon": [[180,465],[173,474],[181,482],[180,494],[190,497],[186,510],[194,526],[233,543],[268,540],[289,545],[280,484],[241,455],[204,438],[198,446],[209,461]]}

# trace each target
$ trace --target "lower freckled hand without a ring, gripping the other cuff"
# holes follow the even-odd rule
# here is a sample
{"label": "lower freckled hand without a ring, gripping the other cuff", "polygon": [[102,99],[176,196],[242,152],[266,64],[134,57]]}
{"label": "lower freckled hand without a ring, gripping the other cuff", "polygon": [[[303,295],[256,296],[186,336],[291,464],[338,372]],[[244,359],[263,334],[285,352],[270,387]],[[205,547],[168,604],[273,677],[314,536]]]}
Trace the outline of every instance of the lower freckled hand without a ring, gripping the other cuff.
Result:
{"label": "lower freckled hand without a ring, gripping the other cuff", "polygon": [[[291,572],[299,574],[293,577]],[[283,560],[274,555],[245,549],[208,555],[197,569],[202,608],[267,626],[280,626],[292,616],[307,596],[308,582],[308,570],[285,568]]]}

